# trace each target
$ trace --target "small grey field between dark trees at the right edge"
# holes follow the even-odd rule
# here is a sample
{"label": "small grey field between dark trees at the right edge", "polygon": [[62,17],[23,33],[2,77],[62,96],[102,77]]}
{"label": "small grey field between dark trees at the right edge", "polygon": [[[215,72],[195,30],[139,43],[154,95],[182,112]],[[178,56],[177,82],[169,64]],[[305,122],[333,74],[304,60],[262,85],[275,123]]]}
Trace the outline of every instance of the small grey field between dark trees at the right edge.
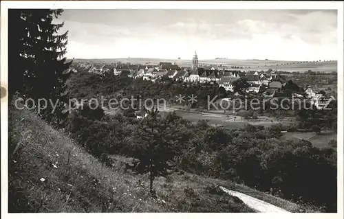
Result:
{"label": "small grey field between dark trees at the right edge", "polygon": [[327,148],[328,142],[332,139],[337,139],[337,134],[334,132],[323,132],[318,135],[315,132],[284,132],[281,139],[304,139],[310,141],[313,146],[317,148]]}

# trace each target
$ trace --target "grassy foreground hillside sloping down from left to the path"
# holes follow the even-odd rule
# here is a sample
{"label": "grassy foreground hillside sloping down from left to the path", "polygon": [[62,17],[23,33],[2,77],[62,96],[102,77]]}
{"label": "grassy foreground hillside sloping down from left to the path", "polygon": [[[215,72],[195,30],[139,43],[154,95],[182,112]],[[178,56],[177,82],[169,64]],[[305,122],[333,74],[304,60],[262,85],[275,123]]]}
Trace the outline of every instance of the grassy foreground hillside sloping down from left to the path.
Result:
{"label": "grassy foreground hillside sloping down from left to the path", "polygon": [[120,161],[107,168],[34,113],[10,112],[10,212],[254,212],[217,185],[288,211],[312,211],[244,185],[189,173],[158,178],[158,197],[151,198],[147,176],[127,172]]}

